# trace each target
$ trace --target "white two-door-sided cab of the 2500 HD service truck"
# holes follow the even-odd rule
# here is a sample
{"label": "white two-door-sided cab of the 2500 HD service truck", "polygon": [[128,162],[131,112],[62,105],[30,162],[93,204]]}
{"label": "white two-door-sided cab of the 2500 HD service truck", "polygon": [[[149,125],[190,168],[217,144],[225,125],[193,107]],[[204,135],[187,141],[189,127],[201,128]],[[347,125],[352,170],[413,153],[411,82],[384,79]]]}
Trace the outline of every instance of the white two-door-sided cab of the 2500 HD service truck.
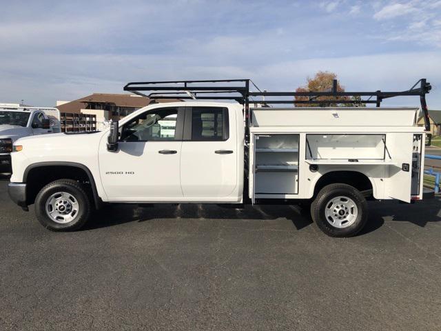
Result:
{"label": "white two-door-sided cab of the 2500 HD service truck", "polygon": [[232,103],[167,103],[119,125],[118,146],[99,143],[107,201],[240,203],[243,198],[242,107]]}

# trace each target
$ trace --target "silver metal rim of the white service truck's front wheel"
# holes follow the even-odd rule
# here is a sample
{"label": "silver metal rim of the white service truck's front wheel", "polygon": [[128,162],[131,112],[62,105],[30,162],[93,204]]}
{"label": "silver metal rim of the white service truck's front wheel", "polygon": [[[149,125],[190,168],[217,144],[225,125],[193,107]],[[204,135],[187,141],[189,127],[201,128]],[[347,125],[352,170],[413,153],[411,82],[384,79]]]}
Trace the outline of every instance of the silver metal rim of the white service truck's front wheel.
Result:
{"label": "silver metal rim of the white service truck's front wheel", "polygon": [[46,214],[52,221],[65,224],[73,221],[79,213],[75,197],[67,192],[57,192],[46,200]]}

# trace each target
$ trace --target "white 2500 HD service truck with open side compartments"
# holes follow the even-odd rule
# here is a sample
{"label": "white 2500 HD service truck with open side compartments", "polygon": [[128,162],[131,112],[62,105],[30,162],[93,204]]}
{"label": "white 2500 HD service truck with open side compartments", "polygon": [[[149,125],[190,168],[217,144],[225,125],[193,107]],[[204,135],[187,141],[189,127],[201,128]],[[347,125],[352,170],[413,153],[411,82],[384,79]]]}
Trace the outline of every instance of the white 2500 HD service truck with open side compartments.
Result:
{"label": "white 2500 HD service truck with open side compartments", "polygon": [[[296,94],[236,86],[230,88],[239,97],[225,99],[238,103],[212,102],[205,100],[224,98],[208,92],[228,87],[197,82],[192,88],[195,81],[183,87],[176,86],[181,81],[130,83],[125,90],[150,90],[152,98],[201,100],[152,104],[102,132],[20,139],[12,152],[10,197],[25,210],[34,203],[50,230],[81,228],[103,203],[311,203],[313,220],[334,237],[363,228],[367,199],[422,199],[419,108],[271,108],[283,101],[268,99],[252,107],[251,96]],[[424,81],[407,94],[371,94],[378,102],[387,93],[424,96],[429,90]],[[310,101],[339,93],[315,92]]]}

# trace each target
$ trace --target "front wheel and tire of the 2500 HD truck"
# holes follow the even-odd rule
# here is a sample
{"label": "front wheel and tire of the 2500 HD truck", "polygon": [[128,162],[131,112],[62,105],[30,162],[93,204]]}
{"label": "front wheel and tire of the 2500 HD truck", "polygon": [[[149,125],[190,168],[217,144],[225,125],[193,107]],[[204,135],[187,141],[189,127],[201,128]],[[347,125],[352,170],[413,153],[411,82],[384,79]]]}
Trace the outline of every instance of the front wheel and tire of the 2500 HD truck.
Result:
{"label": "front wheel and tire of the 2500 HD truck", "polygon": [[37,219],[51,231],[79,230],[88,221],[91,209],[83,185],[72,179],[48,183],[35,199]]}

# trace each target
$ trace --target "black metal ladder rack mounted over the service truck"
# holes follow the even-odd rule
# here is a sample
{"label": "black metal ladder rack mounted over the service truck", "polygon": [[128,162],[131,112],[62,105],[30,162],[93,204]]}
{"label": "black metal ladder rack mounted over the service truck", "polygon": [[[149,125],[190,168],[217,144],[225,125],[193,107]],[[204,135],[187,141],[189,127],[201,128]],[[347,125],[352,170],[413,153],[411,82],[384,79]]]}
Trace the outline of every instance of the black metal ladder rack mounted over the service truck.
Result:
{"label": "black metal ladder rack mounted over the service truck", "polygon": [[[252,84],[258,92],[250,91]],[[260,103],[263,106],[270,104],[316,104],[331,105],[336,103],[375,103],[380,107],[384,99],[392,97],[419,96],[424,116],[424,126],[430,131],[429,112],[427,111],[426,94],[431,90],[426,79],[420,79],[409,90],[400,92],[338,92],[337,81],[334,79],[333,87],[326,92],[267,92],[261,91],[251,79],[214,79],[198,81],[138,81],[127,83],[124,90],[139,94],[150,99],[197,99],[197,100],[233,100],[243,104],[245,116],[249,126],[249,104]],[[254,98],[262,97],[261,100]],[[265,97],[279,97],[266,99]],[[292,97],[280,99],[280,97]],[[296,100],[294,97],[309,97],[307,100]],[[316,100],[317,97],[360,97],[353,100]],[[265,98],[265,99],[264,99]]]}

